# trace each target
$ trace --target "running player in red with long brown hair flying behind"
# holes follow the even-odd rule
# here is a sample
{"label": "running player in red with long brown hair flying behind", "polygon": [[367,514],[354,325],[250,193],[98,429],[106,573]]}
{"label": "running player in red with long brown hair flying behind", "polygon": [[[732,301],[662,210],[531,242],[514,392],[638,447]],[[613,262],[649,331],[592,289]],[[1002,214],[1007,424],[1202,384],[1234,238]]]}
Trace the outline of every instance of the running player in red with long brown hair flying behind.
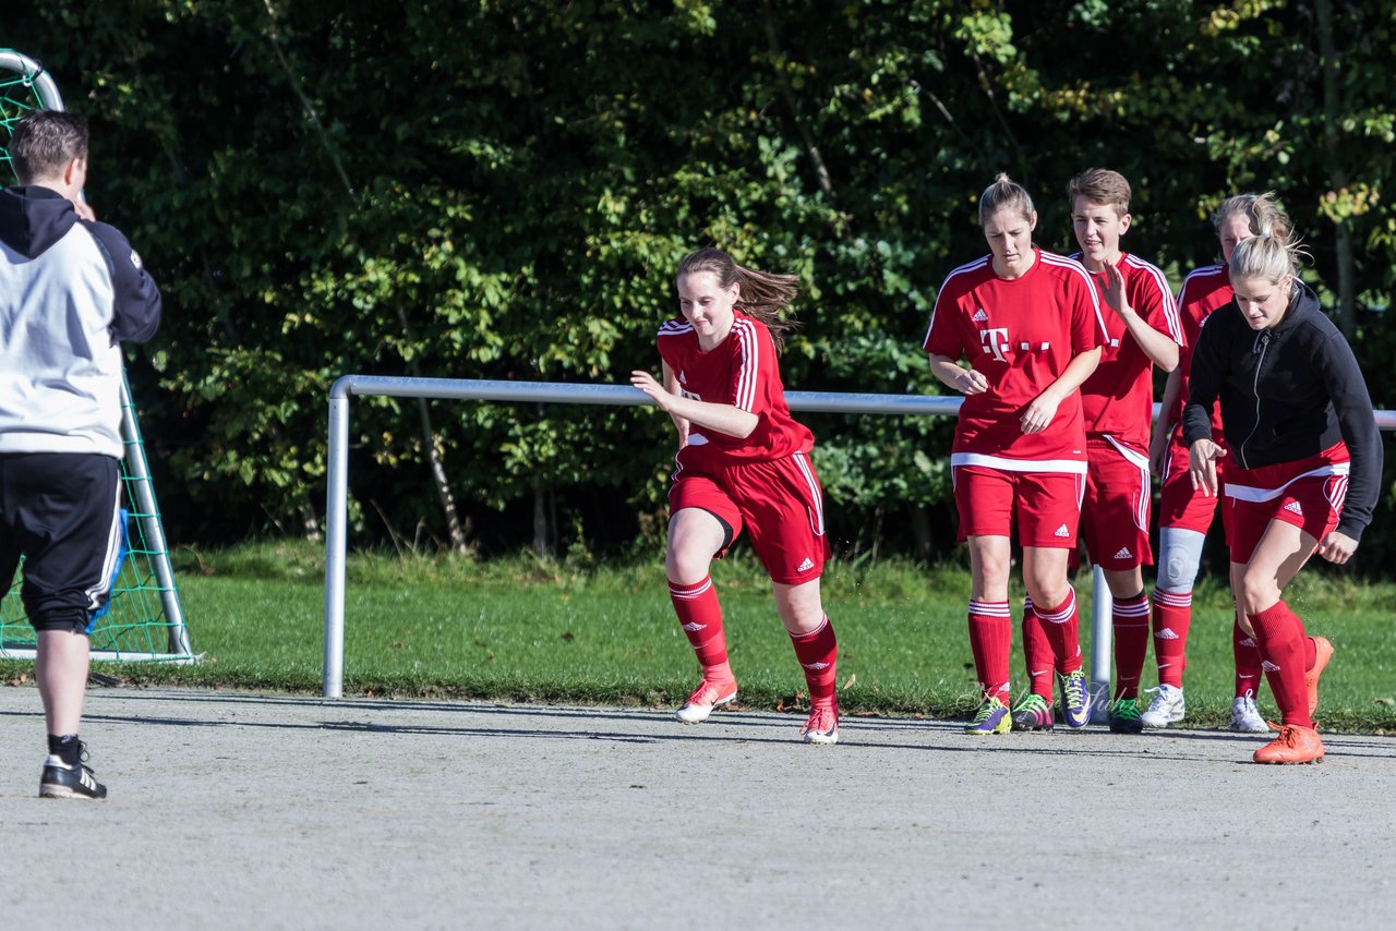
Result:
{"label": "running player in red with long brown hair flying behind", "polygon": [[743,268],[716,248],[684,257],[683,315],[659,328],[663,384],[648,371],[632,371],[630,381],[678,429],[664,569],[702,666],[702,683],[678,720],[697,724],[737,697],[708,569],[745,526],[810,688],[810,719],[800,733],[807,743],[833,744],[838,643],[819,599],[829,553],[822,491],[808,459],[814,437],[790,417],[776,364],[792,325],[783,311],[797,285],[796,275]]}

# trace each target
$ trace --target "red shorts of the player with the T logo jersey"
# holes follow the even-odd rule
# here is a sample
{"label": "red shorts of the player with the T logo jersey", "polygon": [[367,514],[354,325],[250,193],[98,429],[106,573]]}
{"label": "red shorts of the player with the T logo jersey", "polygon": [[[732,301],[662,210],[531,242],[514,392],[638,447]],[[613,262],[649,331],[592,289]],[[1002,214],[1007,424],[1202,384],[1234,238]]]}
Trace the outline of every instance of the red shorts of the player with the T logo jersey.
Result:
{"label": "red shorts of the player with the T logo jersey", "polygon": [[1085,475],[952,465],[951,476],[962,542],[972,536],[1011,536],[1016,518],[1020,544],[1076,549]]}

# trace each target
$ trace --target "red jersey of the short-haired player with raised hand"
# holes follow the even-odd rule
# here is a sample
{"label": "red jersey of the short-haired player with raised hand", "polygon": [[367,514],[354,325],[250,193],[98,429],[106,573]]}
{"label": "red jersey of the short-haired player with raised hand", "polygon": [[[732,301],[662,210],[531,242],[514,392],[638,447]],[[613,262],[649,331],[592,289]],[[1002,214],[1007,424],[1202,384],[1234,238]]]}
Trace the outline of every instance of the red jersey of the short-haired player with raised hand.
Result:
{"label": "red jersey of the short-haired player with raised hand", "polygon": [[[1081,253],[1072,255],[1081,258]],[[1182,345],[1178,306],[1168,289],[1168,279],[1154,265],[1136,255],[1121,253],[1120,274],[1125,279],[1125,297],[1139,317]],[[1086,269],[1100,289],[1101,303],[1108,279],[1104,272]],[[1125,321],[1106,304],[1100,308],[1110,342],[1100,353],[1100,364],[1081,387],[1081,409],[1086,435],[1111,435],[1139,449],[1149,447],[1153,415],[1153,363],[1125,329]]]}

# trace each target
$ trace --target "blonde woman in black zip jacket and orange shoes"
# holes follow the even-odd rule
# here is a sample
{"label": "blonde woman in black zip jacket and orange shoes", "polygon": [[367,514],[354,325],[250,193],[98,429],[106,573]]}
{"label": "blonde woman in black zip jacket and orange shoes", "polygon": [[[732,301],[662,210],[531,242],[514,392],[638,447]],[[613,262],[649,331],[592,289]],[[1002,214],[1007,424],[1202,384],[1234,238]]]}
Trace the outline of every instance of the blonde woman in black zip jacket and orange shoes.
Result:
{"label": "blonde woman in black zip jacket and orange shoes", "polygon": [[[1372,521],[1382,448],[1372,401],[1343,334],[1298,279],[1297,247],[1256,236],[1228,262],[1231,304],[1208,318],[1192,357],[1182,433],[1201,494],[1217,493],[1216,463],[1231,456],[1231,590],[1261,649],[1283,715],[1259,764],[1323,758],[1314,727],[1318,680],[1333,655],[1280,597],[1315,551],[1347,563]],[[1212,438],[1222,399],[1227,448]]]}

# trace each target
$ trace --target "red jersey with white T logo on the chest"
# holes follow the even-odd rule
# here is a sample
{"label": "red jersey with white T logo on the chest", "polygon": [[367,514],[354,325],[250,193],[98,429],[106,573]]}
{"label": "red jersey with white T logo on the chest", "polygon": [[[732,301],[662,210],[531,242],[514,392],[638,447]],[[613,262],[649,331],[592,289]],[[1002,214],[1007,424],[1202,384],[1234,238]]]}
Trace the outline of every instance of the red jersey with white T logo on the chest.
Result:
{"label": "red jersey with white T logo on the chest", "polygon": [[1061,402],[1041,433],[1023,434],[1020,417],[1075,356],[1104,343],[1106,322],[1081,264],[1036,247],[1033,257],[1022,278],[1000,278],[990,255],[952,271],[935,297],[923,349],[966,356],[988,380],[988,391],[966,395],[960,406],[956,458],[1008,469],[1030,461],[1039,472],[1083,472],[1079,392]]}

